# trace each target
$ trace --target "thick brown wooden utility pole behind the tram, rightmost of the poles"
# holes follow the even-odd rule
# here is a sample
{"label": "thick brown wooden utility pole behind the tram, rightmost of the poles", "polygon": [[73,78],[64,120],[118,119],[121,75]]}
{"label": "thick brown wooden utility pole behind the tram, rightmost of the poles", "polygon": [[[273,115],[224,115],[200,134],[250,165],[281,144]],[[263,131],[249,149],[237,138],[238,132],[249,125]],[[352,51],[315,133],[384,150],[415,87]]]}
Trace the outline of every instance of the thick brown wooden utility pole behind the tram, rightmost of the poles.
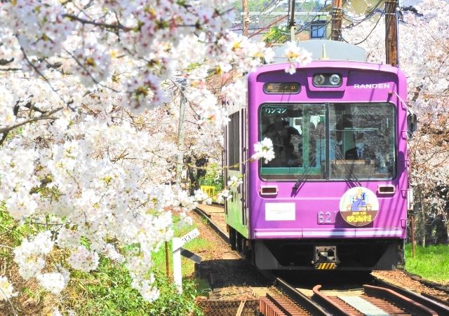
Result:
{"label": "thick brown wooden utility pole behind the tram, rightmost of the poles", "polygon": [[385,0],[385,57],[387,64],[398,67],[398,0]]}

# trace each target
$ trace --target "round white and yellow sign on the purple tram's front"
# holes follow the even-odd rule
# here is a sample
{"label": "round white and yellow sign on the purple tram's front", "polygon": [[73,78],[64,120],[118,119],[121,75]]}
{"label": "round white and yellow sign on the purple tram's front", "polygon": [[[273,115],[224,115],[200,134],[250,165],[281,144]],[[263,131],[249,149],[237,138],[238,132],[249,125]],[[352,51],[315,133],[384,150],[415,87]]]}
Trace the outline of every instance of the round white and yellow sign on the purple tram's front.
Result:
{"label": "round white and yellow sign on the purple tram's front", "polygon": [[379,200],[369,188],[350,188],[340,199],[340,214],[349,225],[366,226],[374,221],[377,212]]}

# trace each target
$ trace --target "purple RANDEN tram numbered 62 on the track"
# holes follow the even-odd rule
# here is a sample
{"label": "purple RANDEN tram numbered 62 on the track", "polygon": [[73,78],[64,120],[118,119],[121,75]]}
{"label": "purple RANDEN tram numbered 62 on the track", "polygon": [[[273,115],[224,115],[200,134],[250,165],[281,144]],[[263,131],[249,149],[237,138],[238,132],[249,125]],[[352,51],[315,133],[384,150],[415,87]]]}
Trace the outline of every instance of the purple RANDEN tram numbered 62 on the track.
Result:
{"label": "purple RANDEN tram numbered 62 on the track", "polygon": [[[225,202],[232,247],[261,270],[395,268],[412,198],[406,77],[370,62],[286,67],[250,73],[225,128],[225,179],[243,177]],[[276,157],[248,162],[265,137]]]}

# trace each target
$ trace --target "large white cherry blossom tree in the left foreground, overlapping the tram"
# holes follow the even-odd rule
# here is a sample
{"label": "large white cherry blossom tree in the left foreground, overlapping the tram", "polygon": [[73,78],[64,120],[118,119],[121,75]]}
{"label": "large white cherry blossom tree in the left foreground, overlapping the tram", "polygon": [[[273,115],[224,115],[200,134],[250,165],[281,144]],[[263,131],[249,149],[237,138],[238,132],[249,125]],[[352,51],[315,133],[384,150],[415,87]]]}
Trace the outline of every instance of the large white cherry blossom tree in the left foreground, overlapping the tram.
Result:
{"label": "large white cherry blossom tree in the left foreground, overlapping the tram", "polygon": [[[95,270],[106,256],[126,265],[143,298],[159,296],[152,253],[173,237],[173,214],[189,221],[195,206],[173,184],[173,158],[186,150],[173,132],[180,99],[203,131],[187,132],[189,150],[209,146],[227,109],[206,86],[208,74],[250,71],[273,55],[227,31],[230,5],[0,2],[0,201],[18,224],[41,227],[13,250],[24,280],[59,294],[71,268]],[[257,150],[272,156],[267,142]],[[130,243],[138,248],[124,251]],[[48,266],[55,247],[67,258]],[[1,298],[15,295],[0,281]]]}

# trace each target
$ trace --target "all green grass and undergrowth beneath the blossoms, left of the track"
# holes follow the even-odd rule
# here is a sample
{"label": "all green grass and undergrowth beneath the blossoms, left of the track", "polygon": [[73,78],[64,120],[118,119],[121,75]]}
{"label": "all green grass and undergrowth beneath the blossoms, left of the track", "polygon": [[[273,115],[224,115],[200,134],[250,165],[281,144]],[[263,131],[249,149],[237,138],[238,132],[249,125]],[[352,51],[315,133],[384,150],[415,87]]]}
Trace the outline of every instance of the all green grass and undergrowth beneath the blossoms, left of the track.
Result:
{"label": "all green grass and undergrowth beneath the blossoms, left of the track", "polygon": [[[175,232],[175,236],[182,236],[192,231],[195,226],[187,226]],[[13,262],[13,252],[10,247],[20,245],[22,238],[27,235],[35,235],[43,230],[43,226],[35,226],[25,221],[25,224],[17,225],[4,208],[4,203],[0,203],[0,261],[3,261],[8,273],[15,273],[11,280],[20,280],[17,275],[17,268]],[[88,240],[83,240],[88,246]],[[34,298],[34,301],[41,302],[46,309],[58,306],[60,310],[74,310],[77,315],[158,315],[158,316],[184,316],[193,312],[193,315],[202,315],[202,312],[194,305],[196,296],[204,295],[203,289],[207,284],[203,280],[195,280],[192,277],[194,272],[194,263],[188,259],[182,258],[182,295],[178,294],[173,284],[173,263],[171,242],[169,242],[170,275],[166,277],[166,258],[165,247],[161,247],[154,254],[155,264],[152,269],[156,274],[156,287],[161,292],[160,298],[153,303],[143,300],[137,290],[130,284],[132,279],[126,266],[120,263],[101,258],[100,265],[95,271],[83,273],[71,270],[71,280],[65,291],[60,296],[53,296],[37,287],[36,282],[27,284],[15,284],[16,289],[20,291],[23,298]],[[192,252],[199,252],[206,247],[213,247],[207,240],[201,239],[201,236],[188,242],[186,249]],[[124,250],[136,249],[138,245],[127,245]],[[48,257],[57,262],[64,261],[66,252],[54,251]],[[11,266],[15,267],[11,269]],[[8,274],[7,273],[7,274]],[[31,282],[31,281],[30,281]],[[26,286],[25,286],[26,285]],[[25,301],[23,299],[22,301]],[[13,300],[13,304],[18,310],[26,310],[18,300]],[[47,306],[48,305],[48,306]],[[0,310],[3,314],[3,310]]]}

